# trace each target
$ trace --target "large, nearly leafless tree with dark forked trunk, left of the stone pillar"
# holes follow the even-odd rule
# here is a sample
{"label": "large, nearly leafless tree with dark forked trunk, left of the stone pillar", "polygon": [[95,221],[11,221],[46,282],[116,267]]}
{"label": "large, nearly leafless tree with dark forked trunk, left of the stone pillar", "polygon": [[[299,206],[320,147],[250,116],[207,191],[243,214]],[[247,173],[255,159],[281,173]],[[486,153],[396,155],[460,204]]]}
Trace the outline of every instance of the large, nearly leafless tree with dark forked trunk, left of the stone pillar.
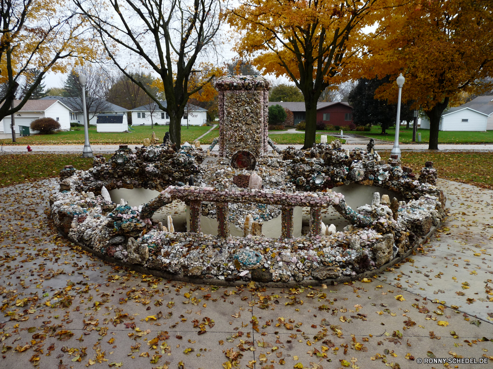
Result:
{"label": "large, nearly leafless tree with dark forked trunk, left of the stone pillar", "polygon": [[[203,87],[190,90],[190,77],[199,69],[199,58],[210,59],[215,50],[220,1],[107,0],[103,7],[96,0],[73,1],[98,32],[118,69],[168,113],[170,138],[179,147],[186,103]],[[123,52],[126,58],[122,59]],[[167,106],[128,71],[132,59],[157,74]]]}

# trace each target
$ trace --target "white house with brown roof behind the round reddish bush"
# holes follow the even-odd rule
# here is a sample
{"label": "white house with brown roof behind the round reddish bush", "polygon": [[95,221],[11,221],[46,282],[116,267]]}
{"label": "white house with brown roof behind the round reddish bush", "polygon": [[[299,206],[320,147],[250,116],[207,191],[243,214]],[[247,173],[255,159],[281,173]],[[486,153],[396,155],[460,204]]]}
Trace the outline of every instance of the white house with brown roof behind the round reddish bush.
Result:
{"label": "white house with brown roof behind the round reddish bush", "polygon": [[[14,100],[14,107],[21,100]],[[19,125],[31,126],[31,122],[38,118],[53,118],[60,123],[60,129],[70,130],[70,109],[59,100],[28,100],[24,106],[14,114],[15,133],[19,134]],[[0,129],[3,133],[12,133],[10,116],[2,119]]]}

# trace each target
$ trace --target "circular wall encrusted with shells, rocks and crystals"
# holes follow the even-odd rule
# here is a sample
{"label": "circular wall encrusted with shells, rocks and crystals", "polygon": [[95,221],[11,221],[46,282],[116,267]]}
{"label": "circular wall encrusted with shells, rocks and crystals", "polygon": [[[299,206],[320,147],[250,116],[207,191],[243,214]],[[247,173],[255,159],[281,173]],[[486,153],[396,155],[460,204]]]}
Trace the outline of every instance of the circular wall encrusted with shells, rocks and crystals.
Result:
{"label": "circular wall encrusted with shells, rocks and crystals", "polygon": [[[200,149],[176,153],[161,145],[119,150],[108,162],[95,158],[88,171],[66,168],[61,192],[50,199],[53,219],[72,242],[147,274],[212,284],[315,285],[378,273],[422,244],[444,216],[445,198],[435,186],[432,163],[415,176],[398,160],[384,161],[363,149],[345,151],[338,141],[304,152],[274,147],[257,160],[262,188],[255,189],[238,181],[253,171],[231,168],[226,158],[201,164],[204,157]],[[190,175],[197,185],[184,185]],[[352,209],[337,192],[352,184],[394,191],[402,200],[377,192],[370,204]],[[161,192],[141,208],[117,205],[106,196],[106,189],[136,187]],[[196,232],[174,232],[152,220],[174,200],[190,205]],[[218,236],[200,232],[202,203],[217,209]],[[229,236],[228,219],[239,215],[228,213],[228,203],[281,207],[282,237],[262,236],[255,212],[245,221],[245,237]],[[294,237],[293,207],[310,208],[307,235]],[[332,208],[351,225],[336,232],[321,224],[321,214]]]}

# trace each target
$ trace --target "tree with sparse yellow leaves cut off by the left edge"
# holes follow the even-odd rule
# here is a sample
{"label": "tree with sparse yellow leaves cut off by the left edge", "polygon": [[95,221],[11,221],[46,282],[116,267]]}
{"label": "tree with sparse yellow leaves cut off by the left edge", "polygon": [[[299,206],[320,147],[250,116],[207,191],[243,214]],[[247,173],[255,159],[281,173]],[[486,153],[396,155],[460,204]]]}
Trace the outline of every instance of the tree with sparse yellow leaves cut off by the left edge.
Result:
{"label": "tree with sparse yellow leaves cut off by the left edge", "polygon": [[[19,111],[39,88],[48,71],[66,72],[69,58],[94,57],[94,41],[70,2],[49,0],[0,1],[0,120]],[[29,87],[15,107],[23,79]]]}

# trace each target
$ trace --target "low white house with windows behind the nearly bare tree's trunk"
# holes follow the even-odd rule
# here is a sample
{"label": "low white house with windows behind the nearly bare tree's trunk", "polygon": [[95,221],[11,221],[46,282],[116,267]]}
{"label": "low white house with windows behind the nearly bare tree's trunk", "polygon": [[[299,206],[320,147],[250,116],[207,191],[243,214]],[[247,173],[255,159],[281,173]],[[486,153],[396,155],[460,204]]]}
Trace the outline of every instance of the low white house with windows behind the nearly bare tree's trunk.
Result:
{"label": "low white house with windows behind the nearly bare tree's trunk", "polygon": [[[161,101],[161,104],[164,107],[167,106],[166,101]],[[152,108],[152,114],[150,108]],[[138,108],[132,109],[131,112],[132,125],[151,125],[151,120],[154,124],[170,124],[170,117],[168,116],[168,113],[159,109],[155,103],[150,106],[149,104],[142,105]],[[181,125],[187,124],[187,117],[189,125],[204,125],[207,123],[207,110],[195,105],[190,105],[188,115],[185,112],[185,115],[181,118]]]}

